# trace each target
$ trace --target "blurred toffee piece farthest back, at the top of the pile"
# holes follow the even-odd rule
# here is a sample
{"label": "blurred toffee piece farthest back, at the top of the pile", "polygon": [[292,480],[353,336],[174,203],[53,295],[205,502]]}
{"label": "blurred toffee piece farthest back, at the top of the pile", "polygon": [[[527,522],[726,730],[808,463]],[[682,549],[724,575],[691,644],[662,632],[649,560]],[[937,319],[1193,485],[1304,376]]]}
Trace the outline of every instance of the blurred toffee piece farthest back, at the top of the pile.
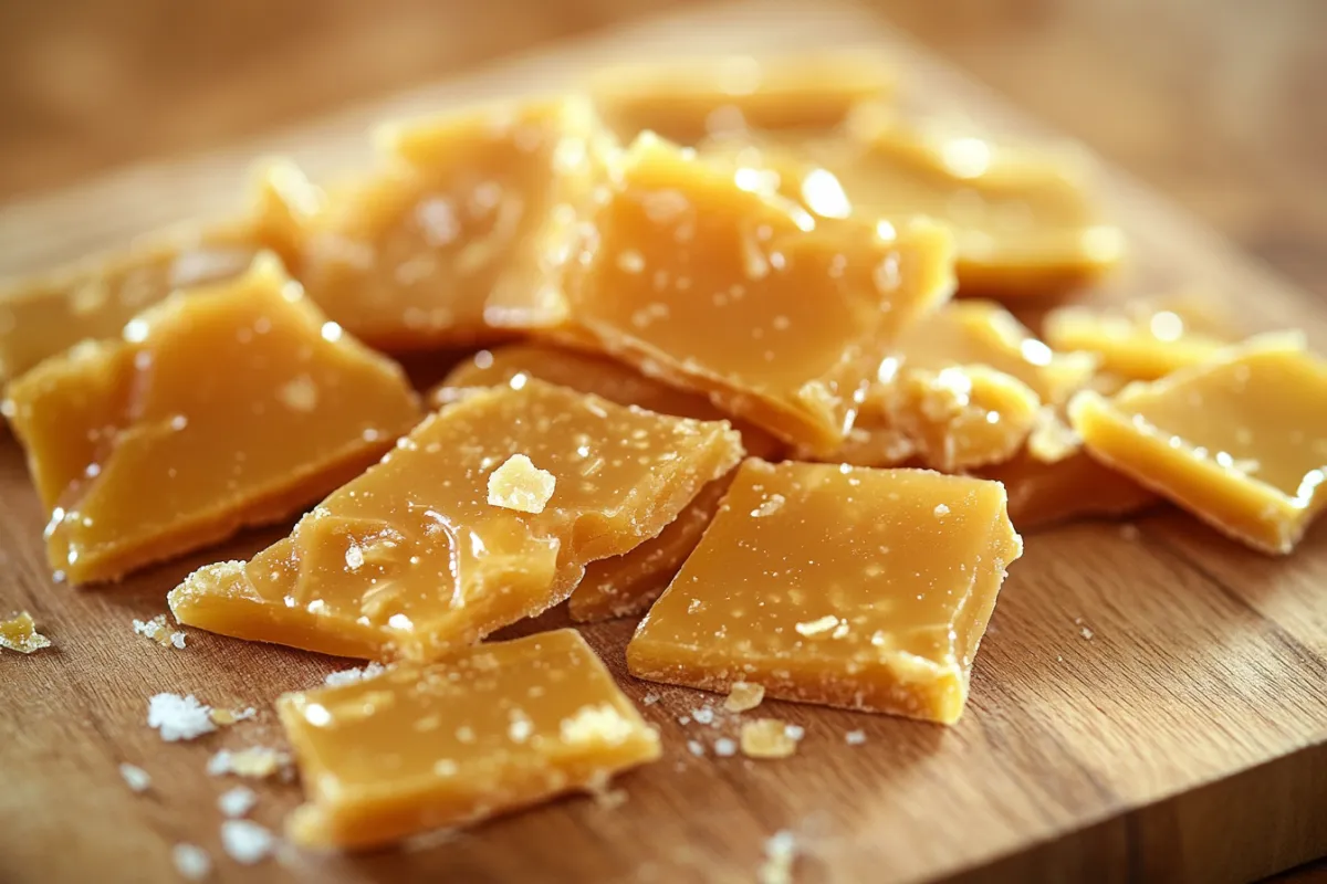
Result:
{"label": "blurred toffee piece farthest back, at the top of the pile", "polygon": [[893,94],[878,58],[848,53],[689,58],[601,70],[591,97],[624,142],[650,130],[691,144],[734,129],[824,130],[860,101]]}

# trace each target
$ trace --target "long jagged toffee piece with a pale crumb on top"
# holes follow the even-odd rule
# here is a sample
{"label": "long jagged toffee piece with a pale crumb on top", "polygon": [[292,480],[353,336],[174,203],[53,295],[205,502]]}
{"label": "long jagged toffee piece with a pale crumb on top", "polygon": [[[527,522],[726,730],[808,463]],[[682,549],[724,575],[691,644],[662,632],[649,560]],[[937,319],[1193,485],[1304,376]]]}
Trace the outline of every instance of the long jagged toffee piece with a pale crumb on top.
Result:
{"label": "long jagged toffee piece with a pale crumb on top", "polygon": [[[537,514],[490,502],[518,455],[553,477]],[[587,562],[657,534],[740,455],[725,423],[519,376],[426,419],[251,562],[194,573],[171,610],[242,639],[437,659],[563,602]]]}

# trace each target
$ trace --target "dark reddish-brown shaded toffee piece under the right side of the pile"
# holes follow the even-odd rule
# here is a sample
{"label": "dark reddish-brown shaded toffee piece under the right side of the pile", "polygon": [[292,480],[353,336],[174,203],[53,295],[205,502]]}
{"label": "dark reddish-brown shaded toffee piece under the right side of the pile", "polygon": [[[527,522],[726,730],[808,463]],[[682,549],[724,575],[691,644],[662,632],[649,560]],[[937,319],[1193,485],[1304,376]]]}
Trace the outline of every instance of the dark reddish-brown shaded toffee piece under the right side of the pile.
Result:
{"label": "dark reddish-brown shaded toffee piece under the right side of the pile", "polygon": [[1054,461],[1022,452],[1007,463],[987,467],[981,476],[1005,484],[1009,520],[1019,531],[1078,518],[1119,518],[1157,502],[1156,494],[1082,447]]}

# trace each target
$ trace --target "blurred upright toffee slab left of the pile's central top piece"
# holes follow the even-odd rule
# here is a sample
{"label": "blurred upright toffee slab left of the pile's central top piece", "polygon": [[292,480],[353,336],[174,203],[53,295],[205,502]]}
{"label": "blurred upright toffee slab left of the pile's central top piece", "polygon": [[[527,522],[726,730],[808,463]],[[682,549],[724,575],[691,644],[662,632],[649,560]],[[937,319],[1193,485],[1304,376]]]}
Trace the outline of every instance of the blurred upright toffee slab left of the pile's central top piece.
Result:
{"label": "blurred upright toffee slab left of the pile's central top piece", "polygon": [[572,98],[385,129],[369,180],[325,195],[305,183],[295,276],[348,331],[391,351],[552,325],[604,138]]}

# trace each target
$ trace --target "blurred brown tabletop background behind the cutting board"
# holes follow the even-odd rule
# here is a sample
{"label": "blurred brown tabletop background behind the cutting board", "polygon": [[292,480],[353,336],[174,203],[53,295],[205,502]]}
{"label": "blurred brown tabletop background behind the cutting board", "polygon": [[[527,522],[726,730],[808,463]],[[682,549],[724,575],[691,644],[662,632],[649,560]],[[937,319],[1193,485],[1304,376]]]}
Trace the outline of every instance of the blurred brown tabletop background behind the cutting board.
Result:
{"label": "blurred brown tabletop background behind the cutting board", "polygon": [[[715,1],[0,0],[0,201]],[[1327,297],[1327,3],[864,1]]]}

